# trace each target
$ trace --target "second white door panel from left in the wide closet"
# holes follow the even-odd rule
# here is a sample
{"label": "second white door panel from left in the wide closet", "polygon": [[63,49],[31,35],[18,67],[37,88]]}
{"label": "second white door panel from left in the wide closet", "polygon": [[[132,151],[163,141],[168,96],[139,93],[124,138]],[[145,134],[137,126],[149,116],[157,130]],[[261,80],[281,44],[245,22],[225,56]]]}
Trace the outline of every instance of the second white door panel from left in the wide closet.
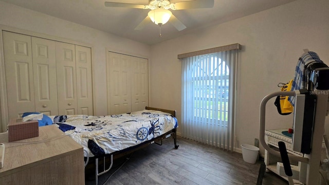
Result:
{"label": "second white door panel from left in the wide closet", "polygon": [[55,42],[32,36],[35,111],[58,115]]}

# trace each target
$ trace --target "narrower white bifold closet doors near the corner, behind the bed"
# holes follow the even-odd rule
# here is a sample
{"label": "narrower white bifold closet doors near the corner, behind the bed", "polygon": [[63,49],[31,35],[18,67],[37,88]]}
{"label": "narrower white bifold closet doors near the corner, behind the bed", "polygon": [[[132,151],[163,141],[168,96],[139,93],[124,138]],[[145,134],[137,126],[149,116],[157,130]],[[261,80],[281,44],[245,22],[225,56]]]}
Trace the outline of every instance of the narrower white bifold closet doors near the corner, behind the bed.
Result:
{"label": "narrower white bifold closet doors near the corner, behind the bed", "polygon": [[109,115],[145,109],[149,104],[148,60],[108,52],[107,112]]}

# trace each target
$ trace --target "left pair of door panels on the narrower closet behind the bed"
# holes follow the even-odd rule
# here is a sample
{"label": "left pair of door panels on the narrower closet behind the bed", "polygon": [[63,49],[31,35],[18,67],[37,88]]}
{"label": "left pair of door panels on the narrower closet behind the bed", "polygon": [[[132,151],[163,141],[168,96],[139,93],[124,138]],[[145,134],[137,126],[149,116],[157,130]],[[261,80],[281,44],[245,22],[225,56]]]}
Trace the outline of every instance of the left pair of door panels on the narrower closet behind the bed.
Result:
{"label": "left pair of door panels on the narrower closet behind the bed", "polygon": [[131,108],[131,74],[128,55],[108,52],[107,92],[108,114],[130,113]]}

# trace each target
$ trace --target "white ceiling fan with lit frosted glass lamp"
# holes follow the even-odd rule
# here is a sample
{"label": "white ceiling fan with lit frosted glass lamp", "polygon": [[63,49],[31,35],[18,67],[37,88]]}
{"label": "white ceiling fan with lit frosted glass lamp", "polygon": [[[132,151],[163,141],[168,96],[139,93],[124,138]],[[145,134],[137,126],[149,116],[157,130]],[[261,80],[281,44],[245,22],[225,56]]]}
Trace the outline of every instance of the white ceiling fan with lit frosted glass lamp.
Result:
{"label": "white ceiling fan with lit frosted glass lamp", "polygon": [[[106,7],[122,7],[122,8],[138,8],[138,9],[151,9],[148,16],[137,25],[135,30],[141,30],[150,21],[161,25],[170,23],[178,30],[184,30],[186,26],[181,23],[169,9],[172,10],[183,10],[183,9],[194,9],[194,8],[212,8],[214,6],[214,0],[192,0],[192,1],[181,1],[171,3],[169,0],[150,0],[148,5],[130,4],[130,3],[115,3],[105,2]],[[161,32],[160,32],[161,36]]]}

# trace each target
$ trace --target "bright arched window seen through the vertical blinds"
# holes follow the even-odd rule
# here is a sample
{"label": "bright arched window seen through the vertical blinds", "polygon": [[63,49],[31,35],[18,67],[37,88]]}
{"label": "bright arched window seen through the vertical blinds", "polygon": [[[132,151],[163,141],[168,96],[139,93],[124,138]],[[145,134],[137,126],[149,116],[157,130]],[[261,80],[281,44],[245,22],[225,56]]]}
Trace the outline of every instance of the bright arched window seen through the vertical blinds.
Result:
{"label": "bright arched window seen through the vertical blinds", "polygon": [[229,69],[225,61],[212,57],[204,59],[192,74],[195,119],[227,126],[229,100]]}

